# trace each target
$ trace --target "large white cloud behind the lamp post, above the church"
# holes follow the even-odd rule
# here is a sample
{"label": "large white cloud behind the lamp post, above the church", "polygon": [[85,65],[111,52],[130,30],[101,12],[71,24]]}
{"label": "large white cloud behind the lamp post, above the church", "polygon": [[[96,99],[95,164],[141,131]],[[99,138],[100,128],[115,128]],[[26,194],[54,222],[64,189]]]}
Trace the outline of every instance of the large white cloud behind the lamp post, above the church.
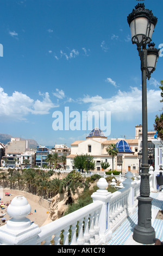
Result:
{"label": "large white cloud behind the lamp post, above the church", "polygon": [[[148,90],[148,113],[158,112],[161,108],[160,90]],[[135,115],[140,115],[142,111],[141,89],[131,87],[129,92],[118,90],[115,96],[103,98],[99,95],[85,95],[80,99],[82,103],[89,103],[90,111],[111,111],[112,118],[118,120],[134,119]]]}

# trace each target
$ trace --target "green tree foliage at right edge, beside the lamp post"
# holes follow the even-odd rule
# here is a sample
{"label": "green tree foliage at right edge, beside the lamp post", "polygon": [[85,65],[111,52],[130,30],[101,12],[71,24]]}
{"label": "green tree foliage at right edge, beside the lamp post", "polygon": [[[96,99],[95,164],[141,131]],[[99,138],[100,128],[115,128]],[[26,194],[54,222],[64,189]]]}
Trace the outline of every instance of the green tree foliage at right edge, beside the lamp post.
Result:
{"label": "green tree foliage at right edge, beside the lamp post", "polygon": [[[161,81],[160,89],[161,89],[161,97],[162,97],[160,102],[163,102],[163,80]],[[156,115],[154,129],[158,133],[158,137],[163,142],[163,113],[160,114],[160,117]]]}

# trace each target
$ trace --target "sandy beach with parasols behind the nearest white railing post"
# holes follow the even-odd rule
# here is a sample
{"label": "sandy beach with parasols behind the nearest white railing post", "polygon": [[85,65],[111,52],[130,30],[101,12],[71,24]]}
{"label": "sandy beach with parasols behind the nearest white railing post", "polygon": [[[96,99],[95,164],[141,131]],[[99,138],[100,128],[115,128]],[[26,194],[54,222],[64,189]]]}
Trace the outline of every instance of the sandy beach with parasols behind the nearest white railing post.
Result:
{"label": "sandy beach with parasols behind the nearest white railing post", "polygon": [[[8,221],[11,219],[11,216],[8,215],[7,213],[7,203],[10,203],[11,200],[16,197],[16,195],[13,193],[11,196],[5,196],[5,192],[9,192],[9,190],[7,191],[3,191],[3,198],[1,198],[0,203],[3,202],[4,207],[2,207],[2,209],[0,208],[0,214],[5,214],[5,216],[3,216],[2,218],[5,218],[5,221]],[[21,196],[21,194],[20,194]],[[29,214],[27,216],[27,218],[29,218],[30,221],[35,222],[35,224],[39,225],[39,227],[41,227],[41,225],[47,220],[48,218],[48,209],[44,208],[43,206],[33,202],[32,200],[28,199],[26,197],[26,199],[28,200],[28,203],[31,206],[31,214]],[[2,222],[2,218],[0,218],[0,227],[2,225],[4,225],[5,223]]]}

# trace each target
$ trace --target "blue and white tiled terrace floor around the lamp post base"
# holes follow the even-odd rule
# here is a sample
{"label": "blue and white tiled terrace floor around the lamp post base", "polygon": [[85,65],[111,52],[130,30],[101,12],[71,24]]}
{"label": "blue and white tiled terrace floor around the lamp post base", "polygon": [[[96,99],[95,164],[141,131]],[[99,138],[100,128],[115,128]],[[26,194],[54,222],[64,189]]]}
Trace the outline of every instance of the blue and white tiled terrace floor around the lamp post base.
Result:
{"label": "blue and white tiled terrace floor around the lamp post base", "polygon": [[[155,218],[159,210],[163,210],[163,193],[151,193],[151,197],[153,198],[152,227],[155,229],[156,238],[163,241],[163,220]],[[135,213],[130,215],[126,221],[115,230],[107,245],[142,245],[133,239],[135,225],[137,225],[137,208]]]}

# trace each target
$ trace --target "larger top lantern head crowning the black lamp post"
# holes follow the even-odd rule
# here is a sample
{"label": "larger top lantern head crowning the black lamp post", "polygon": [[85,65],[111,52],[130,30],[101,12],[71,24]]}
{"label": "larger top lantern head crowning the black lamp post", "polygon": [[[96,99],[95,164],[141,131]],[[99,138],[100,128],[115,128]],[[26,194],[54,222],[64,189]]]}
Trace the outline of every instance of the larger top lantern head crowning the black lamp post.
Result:
{"label": "larger top lantern head crowning the black lamp post", "polygon": [[152,34],[158,19],[152,11],[145,9],[145,4],[139,3],[127,17],[131,30],[131,40],[137,46],[146,46],[151,42]]}

